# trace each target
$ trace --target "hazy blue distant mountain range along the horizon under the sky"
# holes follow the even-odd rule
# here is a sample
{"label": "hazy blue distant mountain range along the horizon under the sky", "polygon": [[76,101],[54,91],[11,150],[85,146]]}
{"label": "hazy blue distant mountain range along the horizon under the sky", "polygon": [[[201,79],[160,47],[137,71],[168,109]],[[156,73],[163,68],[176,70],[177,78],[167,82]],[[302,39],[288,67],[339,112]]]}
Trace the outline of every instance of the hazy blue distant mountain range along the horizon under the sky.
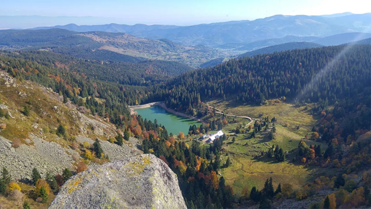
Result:
{"label": "hazy blue distant mountain range along the horizon under the sky", "polygon": [[[82,25],[75,24],[39,27],[60,28],[77,32],[124,32],[141,38],[168,39],[182,45],[218,47],[226,44],[241,45],[266,39],[289,36],[330,36],[347,32],[367,32],[371,29],[371,13],[333,16],[275,15],[253,21],[241,20],[193,26],[173,25]],[[294,42],[297,40],[287,40]],[[301,40],[308,41],[308,40]],[[282,43],[278,43],[282,44]]]}

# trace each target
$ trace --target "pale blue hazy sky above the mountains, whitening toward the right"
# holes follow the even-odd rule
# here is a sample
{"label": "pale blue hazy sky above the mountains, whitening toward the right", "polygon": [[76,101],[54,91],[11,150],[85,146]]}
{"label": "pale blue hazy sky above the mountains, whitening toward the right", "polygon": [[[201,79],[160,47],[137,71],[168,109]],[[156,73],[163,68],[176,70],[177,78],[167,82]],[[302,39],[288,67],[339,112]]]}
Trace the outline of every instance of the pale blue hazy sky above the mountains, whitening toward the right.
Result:
{"label": "pale blue hazy sky above the mountains, whitening toward the right", "polygon": [[1,15],[98,16],[192,25],[267,16],[371,12],[371,0],[2,0]]}

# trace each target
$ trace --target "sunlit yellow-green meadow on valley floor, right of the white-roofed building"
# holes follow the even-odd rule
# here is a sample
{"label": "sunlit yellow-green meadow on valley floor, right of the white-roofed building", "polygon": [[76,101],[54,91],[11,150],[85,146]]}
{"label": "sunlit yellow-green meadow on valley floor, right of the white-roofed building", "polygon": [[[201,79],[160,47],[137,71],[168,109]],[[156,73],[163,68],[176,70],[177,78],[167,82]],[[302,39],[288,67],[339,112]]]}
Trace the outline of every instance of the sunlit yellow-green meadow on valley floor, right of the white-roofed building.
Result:
{"label": "sunlit yellow-green meadow on valley floor, right of the white-roofed building", "polygon": [[[300,189],[319,173],[328,172],[322,168],[292,164],[289,161],[279,163],[274,158],[254,158],[262,152],[268,151],[272,145],[279,145],[283,151],[290,151],[297,148],[301,140],[304,140],[308,145],[321,144],[322,149],[325,149],[326,144],[305,139],[306,134],[312,133],[312,126],[318,120],[317,116],[311,115],[311,104],[306,107],[296,107],[276,99],[269,100],[266,105],[261,106],[238,105],[221,100],[211,101],[208,105],[231,115],[249,116],[257,120],[266,116],[269,116],[270,119],[273,117],[277,119],[275,139],[273,140],[268,138],[269,131],[273,128],[270,124],[268,131],[262,130],[256,134],[255,138],[252,137],[252,132],[249,132],[235,135],[234,143],[232,142],[233,136],[229,136],[224,141],[222,163],[225,163],[227,157],[230,157],[232,164],[227,168],[222,168],[221,174],[224,176],[226,184],[232,186],[235,193],[242,194],[244,188],[250,191],[253,186],[261,190],[265,180],[270,177],[272,177],[275,187],[279,183],[287,183],[291,184],[293,189]],[[239,120],[237,123],[228,124],[223,127],[223,131],[228,133],[242,122]],[[249,120],[246,120],[246,124],[248,122]],[[285,123],[290,125],[286,126]],[[298,125],[299,129],[297,130],[296,126]]]}

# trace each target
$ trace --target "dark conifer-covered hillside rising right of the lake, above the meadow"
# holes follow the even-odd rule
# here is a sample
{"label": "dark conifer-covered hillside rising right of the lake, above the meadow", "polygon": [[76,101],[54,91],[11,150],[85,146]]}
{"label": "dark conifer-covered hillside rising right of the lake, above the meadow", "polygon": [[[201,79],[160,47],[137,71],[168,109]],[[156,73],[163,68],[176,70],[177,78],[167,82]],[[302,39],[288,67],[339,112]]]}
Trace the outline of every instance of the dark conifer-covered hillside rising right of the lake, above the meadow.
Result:
{"label": "dark conifer-covered hillside rising right of the lake, above the meadow", "polygon": [[[171,93],[164,97],[173,108],[196,106],[200,99],[219,97],[260,104],[280,96],[293,102],[319,102],[326,106],[370,86],[371,46],[355,45],[327,68],[344,48],[296,49],[230,60],[169,81],[166,87]],[[310,84],[318,73],[323,75]],[[306,87],[310,90],[303,92]],[[303,96],[296,99],[299,94]]]}

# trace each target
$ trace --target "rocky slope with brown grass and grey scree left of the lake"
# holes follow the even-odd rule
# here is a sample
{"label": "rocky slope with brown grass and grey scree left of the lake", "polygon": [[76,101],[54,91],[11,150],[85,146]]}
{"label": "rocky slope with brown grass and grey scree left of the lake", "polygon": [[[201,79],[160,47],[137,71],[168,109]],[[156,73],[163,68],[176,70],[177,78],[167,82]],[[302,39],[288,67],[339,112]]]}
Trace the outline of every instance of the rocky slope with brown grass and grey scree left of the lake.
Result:
{"label": "rocky slope with brown grass and grey scree left of the lake", "polygon": [[[48,171],[52,174],[61,174],[65,168],[74,171],[80,161],[88,167],[108,162],[84,158],[96,138],[111,160],[141,153],[137,139],[125,141],[122,147],[108,142],[108,138],[118,134],[112,123],[85,113],[86,109],[70,101],[65,104],[62,101],[63,97],[51,89],[0,71],[0,108],[3,115],[9,115],[0,117],[0,169],[6,167],[13,181],[27,182],[34,167],[44,178]],[[28,116],[22,113],[24,106],[30,109]],[[65,127],[65,136],[56,134],[59,125]]]}

